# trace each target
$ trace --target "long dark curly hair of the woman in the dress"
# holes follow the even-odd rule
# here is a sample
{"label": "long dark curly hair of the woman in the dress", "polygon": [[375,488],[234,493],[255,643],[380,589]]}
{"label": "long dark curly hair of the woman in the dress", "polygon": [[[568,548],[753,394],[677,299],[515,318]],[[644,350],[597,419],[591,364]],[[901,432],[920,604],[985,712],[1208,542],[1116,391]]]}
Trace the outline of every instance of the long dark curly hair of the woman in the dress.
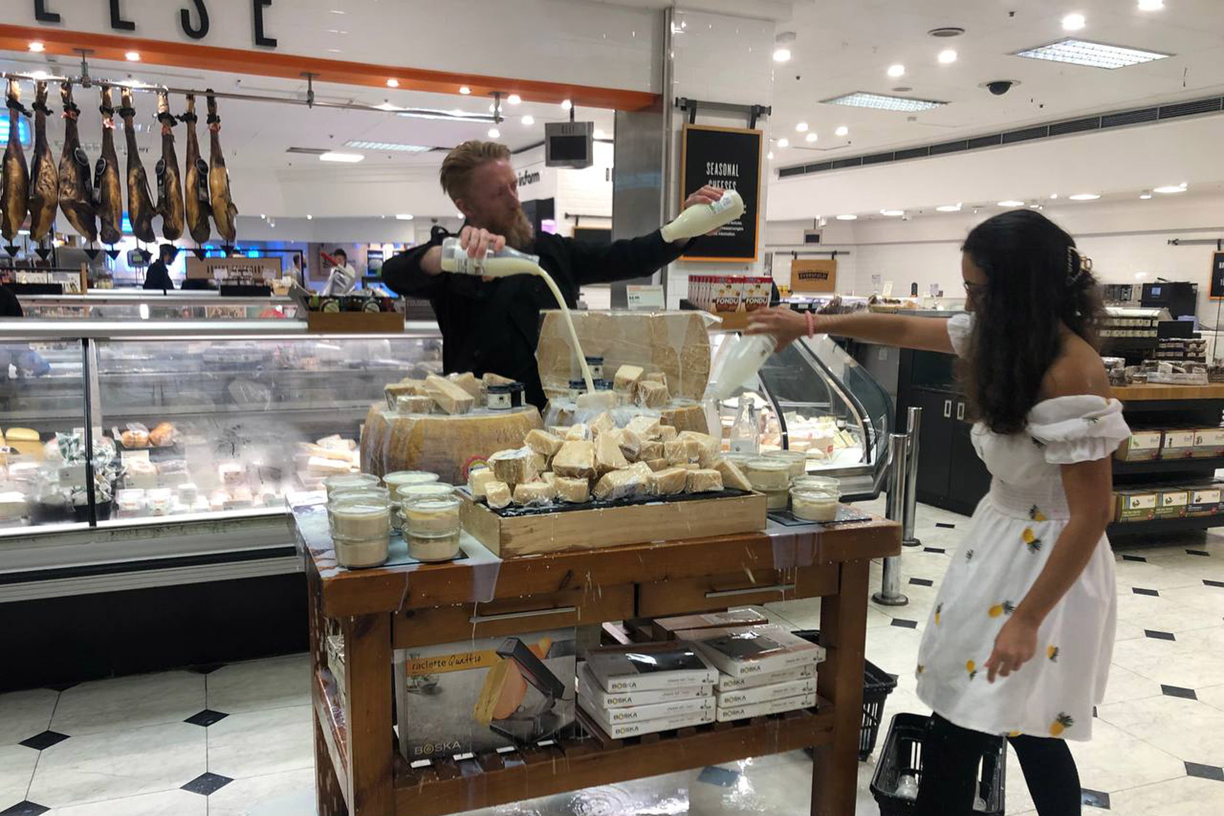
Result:
{"label": "long dark curly hair of the woman in the dress", "polygon": [[1095,346],[1100,297],[1075,240],[1032,209],[978,224],[961,250],[985,274],[960,367],[974,416],[994,433],[1023,429],[1062,349],[1062,325]]}

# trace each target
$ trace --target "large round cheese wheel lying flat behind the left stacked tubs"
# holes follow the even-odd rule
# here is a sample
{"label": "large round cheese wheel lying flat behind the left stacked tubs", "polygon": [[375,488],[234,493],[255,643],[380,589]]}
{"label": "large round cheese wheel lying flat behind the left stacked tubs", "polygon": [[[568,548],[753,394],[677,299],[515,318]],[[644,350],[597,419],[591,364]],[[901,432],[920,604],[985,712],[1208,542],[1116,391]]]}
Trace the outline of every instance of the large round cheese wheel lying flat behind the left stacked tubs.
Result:
{"label": "large round cheese wheel lying flat behind the left stacked tubs", "polygon": [[375,476],[424,470],[449,484],[463,484],[470,461],[520,447],[528,432],[540,426],[534,407],[447,416],[397,414],[373,405],[361,433],[361,470]]}

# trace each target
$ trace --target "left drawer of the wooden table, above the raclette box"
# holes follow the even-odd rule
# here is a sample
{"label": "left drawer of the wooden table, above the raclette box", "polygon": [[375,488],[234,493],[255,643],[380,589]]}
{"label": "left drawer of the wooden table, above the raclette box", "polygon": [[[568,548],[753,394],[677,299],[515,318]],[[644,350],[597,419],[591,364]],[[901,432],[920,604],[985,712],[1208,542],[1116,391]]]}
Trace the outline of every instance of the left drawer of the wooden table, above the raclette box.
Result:
{"label": "left drawer of the wooden table, above the raclette box", "polygon": [[491,603],[408,609],[394,617],[395,648],[497,637],[633,617],[634,586],[573,586],[559,592]]}

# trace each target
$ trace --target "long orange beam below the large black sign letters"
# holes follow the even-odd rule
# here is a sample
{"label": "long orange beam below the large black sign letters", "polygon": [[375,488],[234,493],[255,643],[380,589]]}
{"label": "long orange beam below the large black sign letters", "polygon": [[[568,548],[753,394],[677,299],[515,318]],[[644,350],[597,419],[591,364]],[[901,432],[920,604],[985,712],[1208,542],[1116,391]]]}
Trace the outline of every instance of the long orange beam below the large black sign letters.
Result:
{"label": "long orange beam below the large black sign letters", "polygon": [[524,102],[559,104],[572,100],[580,108],[611,108],[614,110],[641,110],[659,103],[659,94],[645,91],[600,88],[594,86],[543,82],[540,80],[513,80],[488,77],[476,73],[430,71],[393,65],[370,65],[344,60],[324,60],[278,51],[253,51],[239,48],[217,48],[115,34],[64,31],[0,24],[0,50],[28,51],[29,43],[40,42],[47,54],[78,57],[72,49],[87,48],[89,59],[125,61],[127,51],[138,51],[141,62],[176,69],[224,71],[251,76],[302,80],[313,73],[316,82],[348,86],[367,86],[388,91],[387,80],[399,82],[398,91],[424,91],[428,93],[459,94],[460,86],[471,88],[472,97],[487,97],[494,92],[517,93]]}

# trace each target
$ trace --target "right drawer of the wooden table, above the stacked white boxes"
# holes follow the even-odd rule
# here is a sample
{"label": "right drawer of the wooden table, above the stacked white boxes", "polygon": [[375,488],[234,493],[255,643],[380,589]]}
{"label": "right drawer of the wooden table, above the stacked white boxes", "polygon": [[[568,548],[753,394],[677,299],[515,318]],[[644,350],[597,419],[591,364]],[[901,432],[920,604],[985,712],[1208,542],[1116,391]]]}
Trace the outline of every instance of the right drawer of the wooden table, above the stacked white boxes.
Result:
{"label": "right drawer of the wooden table, above the stacked white boxes", "polygon": [[638,585],[638,617],[711,612],[837,592],[837,566],[799,566],[705,575]]}

